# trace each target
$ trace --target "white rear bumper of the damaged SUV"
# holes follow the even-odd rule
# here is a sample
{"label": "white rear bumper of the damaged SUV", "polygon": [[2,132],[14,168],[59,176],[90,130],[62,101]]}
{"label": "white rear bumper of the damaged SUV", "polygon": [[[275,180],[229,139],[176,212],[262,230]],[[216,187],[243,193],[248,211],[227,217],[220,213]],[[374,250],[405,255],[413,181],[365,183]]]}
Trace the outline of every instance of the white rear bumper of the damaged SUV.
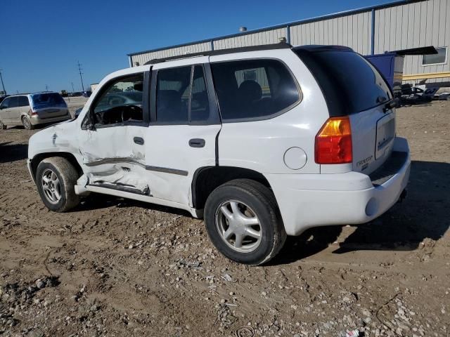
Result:
{"label": "white rear bumper of the damaged SUV", "polygon": [[390,209],[408,184],[411,166],[406,139],[396,138],[393,150],[404,152],[404,159],[384,180],[358,172],[267,174],[288,235],[323,225],[367,223]]}

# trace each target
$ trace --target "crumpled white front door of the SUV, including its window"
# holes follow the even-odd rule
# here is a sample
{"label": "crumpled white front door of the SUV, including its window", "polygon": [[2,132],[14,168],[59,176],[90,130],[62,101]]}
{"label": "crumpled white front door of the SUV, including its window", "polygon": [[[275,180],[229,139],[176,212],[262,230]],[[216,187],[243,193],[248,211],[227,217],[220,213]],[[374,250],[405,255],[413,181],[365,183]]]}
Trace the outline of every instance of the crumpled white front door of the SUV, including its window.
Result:
{"label": "crumpled white front door of the SUV, including its window", "polygon": [[150,196],[144,147],[148,72],[113,79],[99,90],[79,133],[85,183],[94,192],[113,189]]}

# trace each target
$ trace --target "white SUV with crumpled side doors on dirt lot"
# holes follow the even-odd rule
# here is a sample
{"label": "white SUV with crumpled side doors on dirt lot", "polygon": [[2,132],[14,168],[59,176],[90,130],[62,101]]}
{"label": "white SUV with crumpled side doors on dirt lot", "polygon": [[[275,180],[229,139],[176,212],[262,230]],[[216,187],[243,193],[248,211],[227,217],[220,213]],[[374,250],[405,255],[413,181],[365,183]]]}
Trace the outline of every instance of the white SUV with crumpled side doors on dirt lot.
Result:
{"label": "white SUV with crumpled side doors on dirt lot", "polygon": [[253,46],[153,60],[101,81],[79,117],[36,133],[44,204],[97,192],[205,218],[258,265],[286,235],[366,223],[403,197],[408,143],[378,70],[341,46]]}

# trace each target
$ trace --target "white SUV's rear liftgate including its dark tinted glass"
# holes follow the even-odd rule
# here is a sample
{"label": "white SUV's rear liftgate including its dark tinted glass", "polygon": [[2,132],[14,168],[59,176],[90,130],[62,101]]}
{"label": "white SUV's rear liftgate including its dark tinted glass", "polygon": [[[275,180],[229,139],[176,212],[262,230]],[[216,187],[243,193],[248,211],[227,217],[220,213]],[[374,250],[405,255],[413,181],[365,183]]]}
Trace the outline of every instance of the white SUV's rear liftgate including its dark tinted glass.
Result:
{"label": "white SUV's rear liftgate including its dark tinted glass", "polygon": [[[294,51],[321,86],[330,117],[349,116],[352,128],[352,170],[369,174],[392,152],[395,110],[387,81],[365,58],[340,46],[299,47]],[[333,173],[336,166],[322,165]]]}

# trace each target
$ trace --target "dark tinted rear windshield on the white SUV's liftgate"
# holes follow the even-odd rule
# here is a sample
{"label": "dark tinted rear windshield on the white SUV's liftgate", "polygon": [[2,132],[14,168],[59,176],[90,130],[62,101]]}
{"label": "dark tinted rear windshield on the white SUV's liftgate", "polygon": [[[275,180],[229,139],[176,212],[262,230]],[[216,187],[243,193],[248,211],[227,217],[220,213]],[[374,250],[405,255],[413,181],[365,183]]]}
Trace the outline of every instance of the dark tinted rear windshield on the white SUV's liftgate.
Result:
{"label": "dark tinted rear windshield on the white SUV's liftgate", "polygon": [[380,72],[353,51],[295,52],[321,86],[331,117],[356,114],[392,99]]}

